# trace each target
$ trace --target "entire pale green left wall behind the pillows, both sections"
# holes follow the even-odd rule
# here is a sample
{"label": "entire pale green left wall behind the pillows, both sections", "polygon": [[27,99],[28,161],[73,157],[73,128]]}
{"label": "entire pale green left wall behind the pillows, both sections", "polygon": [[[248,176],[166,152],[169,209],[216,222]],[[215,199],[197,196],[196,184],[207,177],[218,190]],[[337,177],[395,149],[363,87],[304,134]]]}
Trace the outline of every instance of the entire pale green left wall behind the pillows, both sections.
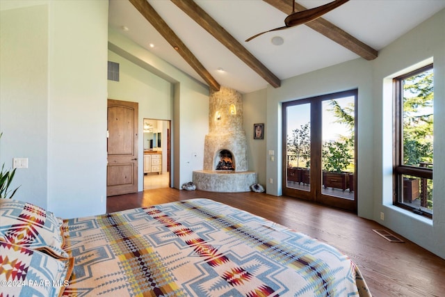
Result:
{"label": "entire pale green left wall behind the pillows, both sections", "polygon": [[29,158],[15,198],[57,216],[104,213],[108,1],[1,10],[1,159]]}

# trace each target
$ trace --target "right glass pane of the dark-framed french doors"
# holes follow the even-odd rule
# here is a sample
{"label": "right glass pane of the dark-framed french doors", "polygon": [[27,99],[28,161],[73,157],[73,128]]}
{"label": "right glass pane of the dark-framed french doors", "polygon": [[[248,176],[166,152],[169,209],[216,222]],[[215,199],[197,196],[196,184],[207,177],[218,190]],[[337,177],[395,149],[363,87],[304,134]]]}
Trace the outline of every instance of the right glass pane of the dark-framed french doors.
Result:
{"label": "right glass pane of the dark-framed french doors", "polygon": [[321,103],[323,195],[354,200],[355,97]]}

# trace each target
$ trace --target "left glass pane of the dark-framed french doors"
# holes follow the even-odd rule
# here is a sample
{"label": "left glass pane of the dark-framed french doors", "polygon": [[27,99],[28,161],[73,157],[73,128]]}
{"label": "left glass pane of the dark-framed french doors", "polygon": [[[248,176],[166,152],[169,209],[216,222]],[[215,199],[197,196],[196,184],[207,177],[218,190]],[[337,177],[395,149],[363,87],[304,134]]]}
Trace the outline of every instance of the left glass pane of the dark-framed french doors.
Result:
{"label": "left glass pane of the dark-framed french doors", "polygon": [[286,187],[310,191],[311,104],[286,108]]}

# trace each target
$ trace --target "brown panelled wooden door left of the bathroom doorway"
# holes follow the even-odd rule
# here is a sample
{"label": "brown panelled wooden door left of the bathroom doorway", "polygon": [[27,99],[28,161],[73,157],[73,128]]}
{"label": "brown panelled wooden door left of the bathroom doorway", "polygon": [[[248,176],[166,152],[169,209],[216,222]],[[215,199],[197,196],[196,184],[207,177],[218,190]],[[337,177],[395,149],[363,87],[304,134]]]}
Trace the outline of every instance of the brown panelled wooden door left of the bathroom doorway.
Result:
{"label": "brown panelled wooden door left of the bathroom doorway", "polygon": [[106,195],[138,191],[138,103],[108,99]]}

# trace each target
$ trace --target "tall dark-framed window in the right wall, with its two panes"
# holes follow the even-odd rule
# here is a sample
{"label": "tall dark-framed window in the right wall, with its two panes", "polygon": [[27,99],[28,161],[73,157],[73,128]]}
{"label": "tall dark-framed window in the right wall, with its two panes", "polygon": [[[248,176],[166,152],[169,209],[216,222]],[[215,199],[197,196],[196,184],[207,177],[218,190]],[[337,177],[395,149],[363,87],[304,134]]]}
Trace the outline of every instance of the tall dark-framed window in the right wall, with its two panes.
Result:
{"label": "tall dark-framed window in the right wall, with its two panes", "polygon": [[396,77],[394,86],[394,204],[432,218],[432,65]]}

